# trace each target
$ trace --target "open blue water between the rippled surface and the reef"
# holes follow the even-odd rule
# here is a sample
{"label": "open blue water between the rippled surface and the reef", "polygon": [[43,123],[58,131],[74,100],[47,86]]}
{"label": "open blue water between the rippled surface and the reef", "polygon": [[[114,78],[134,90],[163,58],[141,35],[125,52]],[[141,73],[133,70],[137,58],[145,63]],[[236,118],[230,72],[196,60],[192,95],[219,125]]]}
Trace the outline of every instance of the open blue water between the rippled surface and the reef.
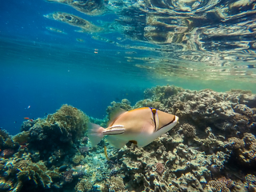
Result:
{"label": "open blue water between the rippled surface and the reef", "polygon": [[[154,74],[158,71],[155,68],[145,70],[137,67],[145,64],[145,59],[139,58],[169,58],[169,55],[138,49],[138,46],[149,45],[129,38],[123,45],[136,45],[136,49],[94,40],[91,36],[95,34],[81,34],[75,31],[79,30],[78,27],[43,17],[54,11],[75,14],[94,23],[98,20],[113,22],[117,18],[114,14],[91,17],[70,6],[42,0],[2,2],[0,127],[10,134],[19,132],[24,118],[42,118],[65,103],[94,118],[104,118],[110,102],[128,98],[134,104],[143,98],[146,88],[167,83],[191,90],[210,88],[226,91],[236,88],[256,93],[254,78],[249,78],[250,82],[159,78]],[[66,34],[47,30],[49,26]],[[117,31],[103,36],[116,41],[125,35]],[[82,38],[84,42],[78,42],[76,38]],[[98,53],[94,53],[95,50]],[[254,69],[251,70],[255,73]],[[170,76],[175,76],[175,73]]]}

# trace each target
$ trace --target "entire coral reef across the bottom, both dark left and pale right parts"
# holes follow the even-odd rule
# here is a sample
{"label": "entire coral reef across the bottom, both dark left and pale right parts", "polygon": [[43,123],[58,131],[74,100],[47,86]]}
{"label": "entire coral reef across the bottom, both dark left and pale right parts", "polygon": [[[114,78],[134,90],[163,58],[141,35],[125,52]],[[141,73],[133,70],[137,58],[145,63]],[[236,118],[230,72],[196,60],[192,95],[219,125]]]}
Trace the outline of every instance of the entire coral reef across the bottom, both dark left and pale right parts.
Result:
{"label": "entire coral reef across the bottom, both dark left and pale right parts", "polygon": [[[91,147],[89,118],[64,105],[55,114],[24,122],[11,137],[0,130],[1,191],[255,191],[256,97],[250,91],[183,90],[157,86],[130,106],[178,115],[179,124],[148,146],[127,143],[117,150],[102,140]],[[110,159],[104,154],[106,146]]]}

